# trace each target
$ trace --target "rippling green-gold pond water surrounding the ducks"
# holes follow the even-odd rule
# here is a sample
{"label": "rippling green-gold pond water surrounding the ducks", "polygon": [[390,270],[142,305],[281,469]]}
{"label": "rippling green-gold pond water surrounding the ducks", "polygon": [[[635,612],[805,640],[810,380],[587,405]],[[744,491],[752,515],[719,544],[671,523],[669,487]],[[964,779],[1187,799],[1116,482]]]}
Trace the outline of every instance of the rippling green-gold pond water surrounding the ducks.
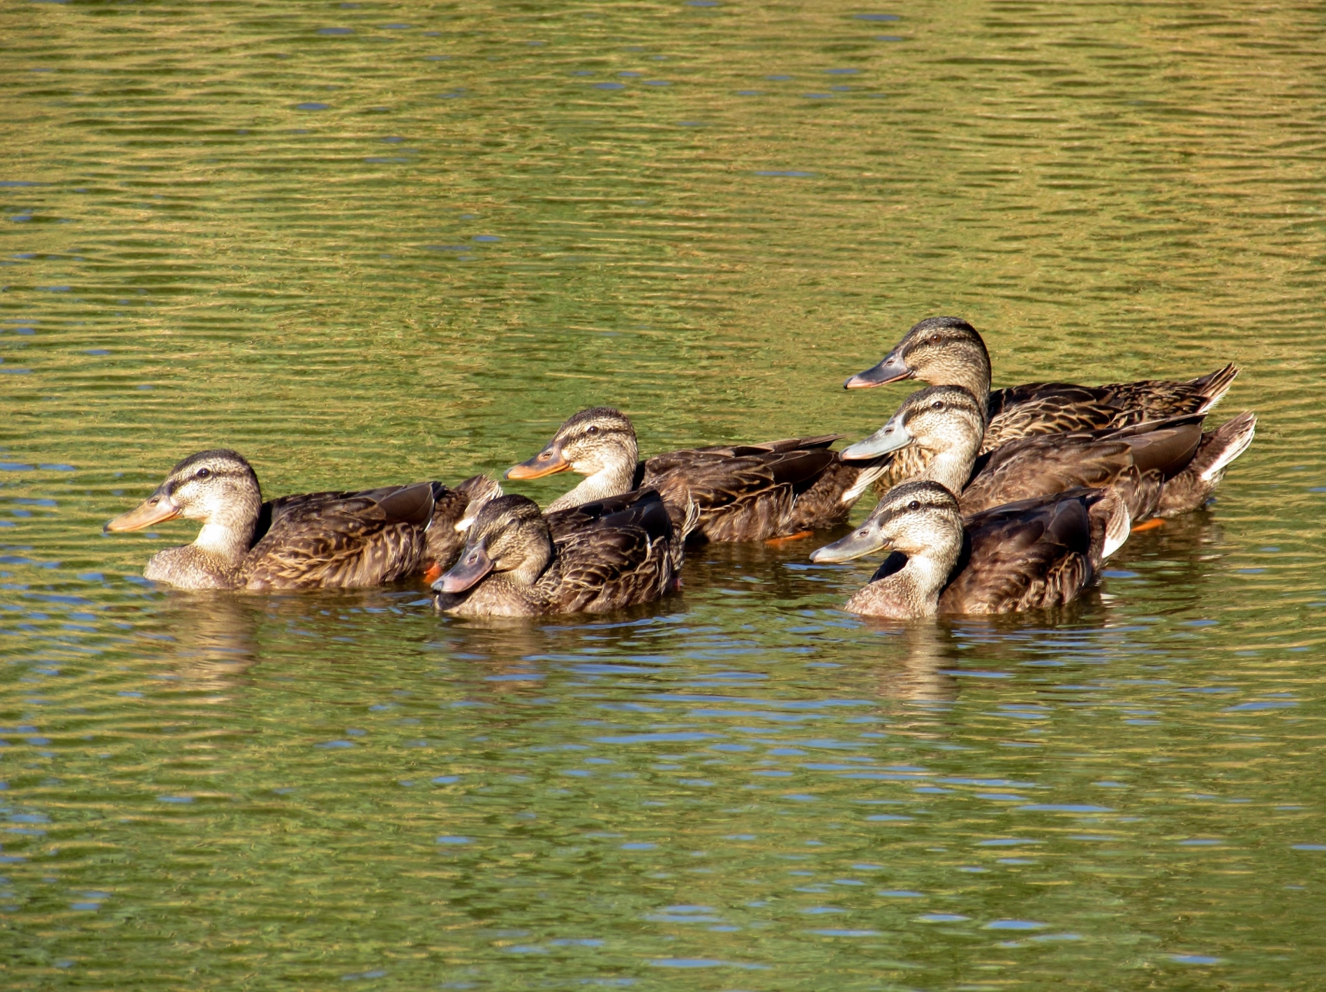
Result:
{"label": "rippling green-gold pond water surrounding the ducks", "polygon": [[[0,985],[1326,985],[1326,29],[1311,4],[0,8]],[[1242,374],[1207,512],[1054,615],[886,626],[833,534],[483,623],[146,584],[269,495]],[[509,491],[548,500],[566,476]],[[866,507],[858,509],[858,516]]]}

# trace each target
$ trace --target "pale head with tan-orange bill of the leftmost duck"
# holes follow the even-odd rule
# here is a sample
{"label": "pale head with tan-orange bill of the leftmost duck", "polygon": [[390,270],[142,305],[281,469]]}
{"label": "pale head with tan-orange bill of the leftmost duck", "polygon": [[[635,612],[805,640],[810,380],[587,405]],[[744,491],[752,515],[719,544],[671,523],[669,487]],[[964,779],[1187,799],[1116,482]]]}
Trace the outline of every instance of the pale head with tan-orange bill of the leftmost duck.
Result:
{"label": "pale head with tan-orange bill of the leftmost duck", "polygon": [[232,554],[248,550],[263,507],[263,493],[252,465],[237,451],[216,448],[190,455],[166,481],[127,513],[107,521],[109,532],[142,530],[152,524],[184,517],[199,520],[203,532],[195,544],[216,545]]}

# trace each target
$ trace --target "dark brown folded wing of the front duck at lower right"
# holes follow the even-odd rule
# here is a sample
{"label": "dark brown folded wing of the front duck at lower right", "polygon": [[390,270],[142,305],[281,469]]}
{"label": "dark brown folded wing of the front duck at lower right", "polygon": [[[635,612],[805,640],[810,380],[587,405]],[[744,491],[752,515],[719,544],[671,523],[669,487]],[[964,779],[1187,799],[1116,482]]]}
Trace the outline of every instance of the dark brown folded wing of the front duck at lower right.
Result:
{"label": "dark brown folded wing of the front duck at lower right", "polygon": [[1074,599],[1094,578],[1090,507],[1099,497],[1055,495],[969,517],[940,611],[1014,613]]}

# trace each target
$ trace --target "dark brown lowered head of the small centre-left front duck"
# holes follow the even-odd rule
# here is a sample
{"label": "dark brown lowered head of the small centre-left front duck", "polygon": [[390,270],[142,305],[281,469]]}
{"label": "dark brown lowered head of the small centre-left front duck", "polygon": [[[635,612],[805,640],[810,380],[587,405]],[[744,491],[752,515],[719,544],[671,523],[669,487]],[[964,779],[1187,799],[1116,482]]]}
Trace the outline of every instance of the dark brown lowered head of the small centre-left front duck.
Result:
{"label": "dark brown lowered head of the small centre-left front duck", "polygon": [[509,576],[530,586],[552,558],[553,538],[538,504],[525,496],[499,496],[479,511],[460,560],[432,588],[463,593],[489,574]]}

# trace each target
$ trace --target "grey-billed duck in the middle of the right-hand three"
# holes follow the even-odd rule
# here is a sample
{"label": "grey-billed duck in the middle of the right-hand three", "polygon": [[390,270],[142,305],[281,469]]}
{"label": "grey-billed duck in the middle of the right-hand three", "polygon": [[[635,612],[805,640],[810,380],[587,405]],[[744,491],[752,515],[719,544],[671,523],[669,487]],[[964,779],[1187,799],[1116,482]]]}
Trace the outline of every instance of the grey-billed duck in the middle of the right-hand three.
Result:
{"label": "grey-billed duck in the middle of the right-hand three", "polygon": [[1225,467],[1252,444],[1257,427],[1252,414],[1205,434],[1203,416],[1042,434],[977,456],[984,432],[980,402],[961,386],[930,386],[907,397],[883,427],[842,454],[880,458],[918,450],[923,465],[915,477],[957,493],[964,515],[1075,487],[1115,487],[1138,523],[1203,505]]}

